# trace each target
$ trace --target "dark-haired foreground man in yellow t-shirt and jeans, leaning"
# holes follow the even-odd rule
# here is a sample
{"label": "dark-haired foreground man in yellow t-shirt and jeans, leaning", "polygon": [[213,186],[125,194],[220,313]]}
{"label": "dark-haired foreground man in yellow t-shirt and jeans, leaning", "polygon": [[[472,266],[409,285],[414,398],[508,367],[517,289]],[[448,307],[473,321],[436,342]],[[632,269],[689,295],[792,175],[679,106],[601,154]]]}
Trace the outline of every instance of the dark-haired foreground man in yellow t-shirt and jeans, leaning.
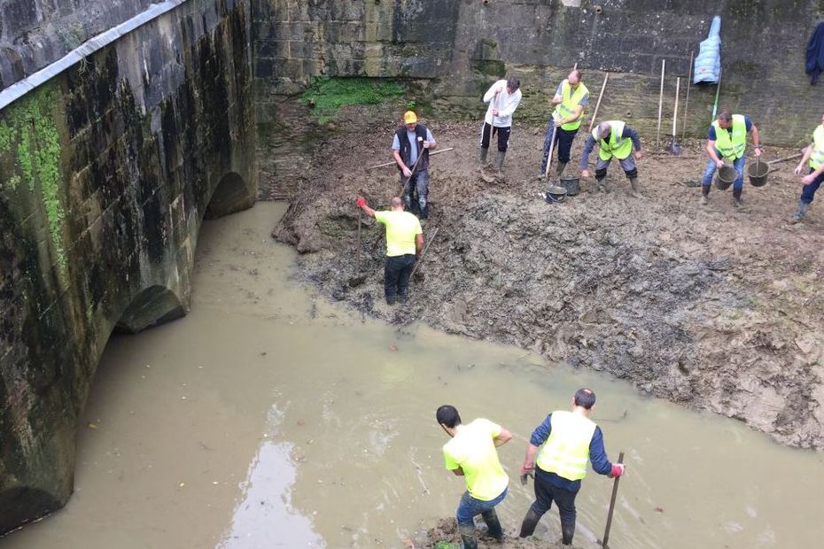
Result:
{"label": "dark-haired foreground man in yellow t-shirt and jeans, leaning", "polygon": [[488,534],[501,541],[503,529],[495,506],[507,496],[509,476],[501,468],[495,448],[507,444],[512,435],[507,429],[483,418],[463,425],[455,406],[440,406],[435,418],[452,437],[443,447],[447,469],[466,479],[466,491],[456,512],[463,548],[478,547],[473,521],[477,514],[486,522]]}

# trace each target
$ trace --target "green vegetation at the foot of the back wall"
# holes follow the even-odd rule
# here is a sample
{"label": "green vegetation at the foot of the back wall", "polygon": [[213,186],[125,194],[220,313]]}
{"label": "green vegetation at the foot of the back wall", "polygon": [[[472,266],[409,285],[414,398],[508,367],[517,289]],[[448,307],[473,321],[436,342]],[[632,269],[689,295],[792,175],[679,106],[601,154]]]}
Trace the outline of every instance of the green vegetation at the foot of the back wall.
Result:
{"label": "green vegetation at the foot of the back wall", "polygon": [[350,104],[380,104],[407,92],[398,81],[377,78],[315,78],[300,102],[315,111],[320,124],[335,120],[340,107]]}

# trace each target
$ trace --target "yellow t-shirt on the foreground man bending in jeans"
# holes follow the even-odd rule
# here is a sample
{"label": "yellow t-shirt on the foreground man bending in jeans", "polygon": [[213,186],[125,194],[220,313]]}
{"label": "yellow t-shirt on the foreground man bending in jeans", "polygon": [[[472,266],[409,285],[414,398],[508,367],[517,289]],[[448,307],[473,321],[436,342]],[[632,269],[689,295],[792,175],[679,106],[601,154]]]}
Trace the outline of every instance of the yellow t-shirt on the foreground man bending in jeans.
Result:
{"label": "yellow t-shirt on the foreground man bending in jeans", "polygon": [[447,469],[463,469],[470,496],[490,501],[501,495],[509,485],[509,476],[501,467],[493,442],[501,434],[501,426],[478,418],[463,425],[452,440],[444,445]]}

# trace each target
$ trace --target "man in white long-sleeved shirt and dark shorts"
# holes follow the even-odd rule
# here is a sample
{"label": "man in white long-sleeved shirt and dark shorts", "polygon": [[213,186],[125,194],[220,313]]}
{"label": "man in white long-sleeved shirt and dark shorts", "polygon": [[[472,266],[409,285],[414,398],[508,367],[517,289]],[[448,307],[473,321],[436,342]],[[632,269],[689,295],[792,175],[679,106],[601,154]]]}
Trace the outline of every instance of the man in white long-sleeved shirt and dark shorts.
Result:
{"label": "man in white long-sleeved shirt and dark shorts", "polygon": [[[512,113],[521,102],[521,81],[517,78],[496,81],[484,94],[484,103],[488,103],[484,128],[481,130],[480,164],[481,177],[487,183],[503,181],[503,160],[507,156],[509,134],[512,131]],[[486,154],[492,136],[498,135],[498,156],[495,157],[495,176],[486,174]]]}

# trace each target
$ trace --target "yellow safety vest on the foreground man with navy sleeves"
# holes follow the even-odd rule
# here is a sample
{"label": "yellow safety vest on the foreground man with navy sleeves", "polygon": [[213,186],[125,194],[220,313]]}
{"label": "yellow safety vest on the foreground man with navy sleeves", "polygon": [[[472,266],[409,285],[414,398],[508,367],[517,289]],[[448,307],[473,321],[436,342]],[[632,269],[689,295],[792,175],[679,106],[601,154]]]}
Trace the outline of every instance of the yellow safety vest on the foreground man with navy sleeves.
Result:
{"label": "yellow safety vest on the foreground man with navy sleeves", "polygon": [[595,421],[564,410],[552,413],[552,430],[547,442],[540,446],[535,463],[548,473],[567,480],[587,476],[589,444],[595,433]]}

